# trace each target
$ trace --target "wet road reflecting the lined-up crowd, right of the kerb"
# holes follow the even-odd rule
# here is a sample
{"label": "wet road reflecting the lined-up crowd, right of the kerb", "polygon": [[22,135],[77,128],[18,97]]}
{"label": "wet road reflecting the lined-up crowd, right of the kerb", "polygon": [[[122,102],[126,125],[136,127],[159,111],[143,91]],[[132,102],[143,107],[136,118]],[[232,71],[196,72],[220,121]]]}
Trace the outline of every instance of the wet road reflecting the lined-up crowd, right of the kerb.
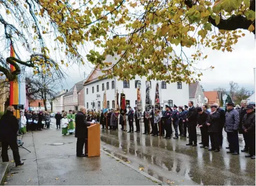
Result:
{"label": "wet road reflecting the lined-up crowd, right of the kerb", "polygon": [[[201,142],[201,136],[197,136]],[[227,154],[226,138],[221,152],[186,146],[187,138],[159,139],[125,133],[101,131],[102,148],[160,181],[173,185],[255,185],[255,160]],[[239,140],[240,149],[244,143]],[[174,183],[173,183],[174,182]]]}

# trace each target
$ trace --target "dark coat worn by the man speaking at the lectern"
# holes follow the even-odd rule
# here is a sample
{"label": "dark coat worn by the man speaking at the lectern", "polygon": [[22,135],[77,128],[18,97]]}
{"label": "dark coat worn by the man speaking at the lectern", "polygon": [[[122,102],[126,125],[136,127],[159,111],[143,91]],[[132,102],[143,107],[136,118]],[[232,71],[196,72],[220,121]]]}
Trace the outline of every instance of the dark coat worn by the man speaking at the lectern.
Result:
{"label": "dark coat worn by the man speaking at the lectern", "polygon": [[75,137],[76,138],[87,138],[88,137],[88,129],[90,123],[86,121],[86,116],[78,111],[75,117],[76,121],[76,129],[75,129]]}

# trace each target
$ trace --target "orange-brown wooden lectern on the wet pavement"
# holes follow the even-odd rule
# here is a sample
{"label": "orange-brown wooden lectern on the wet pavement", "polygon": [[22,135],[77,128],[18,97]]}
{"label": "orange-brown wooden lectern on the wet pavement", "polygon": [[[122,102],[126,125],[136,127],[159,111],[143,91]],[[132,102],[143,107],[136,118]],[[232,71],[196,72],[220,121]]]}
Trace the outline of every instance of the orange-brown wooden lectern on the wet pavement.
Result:
{"label": "orange-brown wooden lectern on the wet pavement", "polygon": [[101,138],[99,123],[88,127],[88,157],[99,157],[101,155]]}

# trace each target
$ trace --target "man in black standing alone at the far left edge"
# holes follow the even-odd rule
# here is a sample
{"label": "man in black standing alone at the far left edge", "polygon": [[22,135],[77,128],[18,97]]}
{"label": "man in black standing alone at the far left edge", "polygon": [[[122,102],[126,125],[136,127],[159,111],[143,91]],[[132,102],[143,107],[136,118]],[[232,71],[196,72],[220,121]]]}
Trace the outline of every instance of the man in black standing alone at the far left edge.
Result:
{"label": "man in black standing alone at the far left edge", "polygon": [[9,106],[6,113],[0,120],[0,142],[2,143],[2,160],[9,162],[8,146],[11,147],[13,159],[16,167],[24,165],[20,161],[19,148],[17,144],[17,131],[19,130],[19,123],[17,118],[13,115],[14,107]]}

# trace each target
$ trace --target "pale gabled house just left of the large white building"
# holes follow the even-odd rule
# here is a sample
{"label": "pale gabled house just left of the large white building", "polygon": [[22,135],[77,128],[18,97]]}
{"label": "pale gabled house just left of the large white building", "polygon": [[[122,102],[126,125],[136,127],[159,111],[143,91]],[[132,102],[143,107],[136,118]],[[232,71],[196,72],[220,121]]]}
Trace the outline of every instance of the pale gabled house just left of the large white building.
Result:
{"label": "pale gabled house just left of the large white building", "polygon": [[79,110],[84,107],[84,80],[76,83],[66,94],[63,95],[64,110]]}

